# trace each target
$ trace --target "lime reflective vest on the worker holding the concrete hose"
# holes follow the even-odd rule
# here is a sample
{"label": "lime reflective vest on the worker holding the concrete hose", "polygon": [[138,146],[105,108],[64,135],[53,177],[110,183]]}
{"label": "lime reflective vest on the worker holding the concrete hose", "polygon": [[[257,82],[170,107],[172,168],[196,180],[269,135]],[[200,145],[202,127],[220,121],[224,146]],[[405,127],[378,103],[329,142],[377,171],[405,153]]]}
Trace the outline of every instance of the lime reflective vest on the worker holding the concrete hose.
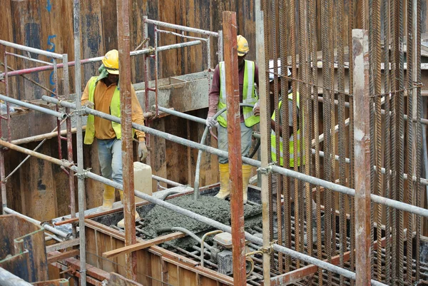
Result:
{"label": "lime reflective vest on the worker holding the concrete hose", "polygon": [[[220,68],[220,98],[218,101],[217,110],[226,107],[226,73],[225,73],[225,62],[221,61],[218,63]],[[255,76],[255,63],[254,61],[245,60],[244,66],[244,84],[243,84],[243,103],[255,105],[258,101],[258,95],[255,93],[254,88],[254,76]],[[244,122],[245,126],[251,127],[260,122],[260,117],[255,116],[253,108],[243,107]],[[228,127],[228,113],[223,112],[217,118],[218,123],[224,128]]]}

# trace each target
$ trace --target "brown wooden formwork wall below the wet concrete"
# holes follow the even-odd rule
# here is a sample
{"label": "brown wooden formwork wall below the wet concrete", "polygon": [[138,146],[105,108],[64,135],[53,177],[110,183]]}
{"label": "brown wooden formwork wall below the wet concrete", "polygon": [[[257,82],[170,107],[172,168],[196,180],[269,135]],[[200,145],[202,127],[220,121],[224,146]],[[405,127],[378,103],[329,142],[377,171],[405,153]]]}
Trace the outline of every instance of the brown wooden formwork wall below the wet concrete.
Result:
{"label": "brown wooden formwork wall below the wet concrete", "polygon": [[[138,242],[143,241],[137,238]],[[103,252],[125,246],[124,233],[106,225],[86,220],[86,261],[106,272],[125,275],[125,255],[111,260]],[[200,266],[199,262],[156,245],[137,250],[137,282],[142,285],[233,285],[233,278]]]}

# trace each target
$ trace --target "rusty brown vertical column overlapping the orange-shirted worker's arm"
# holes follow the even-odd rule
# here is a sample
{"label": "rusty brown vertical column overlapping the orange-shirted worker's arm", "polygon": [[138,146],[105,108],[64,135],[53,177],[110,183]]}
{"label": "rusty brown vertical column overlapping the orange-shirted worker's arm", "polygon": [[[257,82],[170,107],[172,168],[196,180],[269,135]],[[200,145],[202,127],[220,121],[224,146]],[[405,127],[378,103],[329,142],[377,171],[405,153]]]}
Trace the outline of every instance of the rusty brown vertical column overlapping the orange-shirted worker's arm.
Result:
{"label": "rusty brown vertical column overlapping the orange-shirted worker's arm", "polygon": [[[117,1],[118,9],[118,51],[121,82],[121,134],[123,170],[123,213],[125,216],[125,245],[133,245],[136,239],[136,203],[133,179],[133,143],[131,108],[131,56],[129,13],[130,0]],[[137,253],[125,255],[126,277],[136,281]]]}

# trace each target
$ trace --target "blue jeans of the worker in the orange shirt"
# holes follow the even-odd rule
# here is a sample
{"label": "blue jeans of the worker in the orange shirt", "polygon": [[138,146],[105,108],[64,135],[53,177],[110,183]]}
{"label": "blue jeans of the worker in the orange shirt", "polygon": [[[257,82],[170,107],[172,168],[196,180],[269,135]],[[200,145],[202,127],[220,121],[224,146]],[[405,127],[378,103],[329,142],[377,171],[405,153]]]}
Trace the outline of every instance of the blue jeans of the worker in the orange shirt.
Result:
{"label": "blue jeans of the worker in the orange shirt", "polygon": [[104,178],[122,184],[122,141],[116,138],[106,140],[97,139],[97,143],[101,175]]}

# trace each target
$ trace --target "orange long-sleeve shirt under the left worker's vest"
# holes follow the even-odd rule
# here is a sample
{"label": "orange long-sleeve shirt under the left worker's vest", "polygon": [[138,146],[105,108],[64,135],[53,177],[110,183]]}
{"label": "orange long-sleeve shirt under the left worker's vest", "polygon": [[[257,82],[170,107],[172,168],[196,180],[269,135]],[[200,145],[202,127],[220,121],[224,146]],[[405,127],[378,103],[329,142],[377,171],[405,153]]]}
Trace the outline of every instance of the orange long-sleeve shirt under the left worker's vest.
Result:
{"label": "orange long-sleeve shirt under the left worker's vest", "polygon": [[[94,109],[103,113],[110,114],[110,103],[113,98],[113,93],[116,90],[116,83],[107,86],[104,81],[98,81],[93,93]],[[82,95],[82,105],[88,101],[89,87],[86,84],[85,91]],[[144,125],[143,109],[138,102],[136,91],[131,85],[131,104],[132,104],[132,122]],[[108,121],[98,116],[94,116],[95,137],[98,139],[112,139],[116,137],[116,133],[111,126],[111,121]],[[146,134],[143,131],[136,131],[138,141],[146,141]]]}

